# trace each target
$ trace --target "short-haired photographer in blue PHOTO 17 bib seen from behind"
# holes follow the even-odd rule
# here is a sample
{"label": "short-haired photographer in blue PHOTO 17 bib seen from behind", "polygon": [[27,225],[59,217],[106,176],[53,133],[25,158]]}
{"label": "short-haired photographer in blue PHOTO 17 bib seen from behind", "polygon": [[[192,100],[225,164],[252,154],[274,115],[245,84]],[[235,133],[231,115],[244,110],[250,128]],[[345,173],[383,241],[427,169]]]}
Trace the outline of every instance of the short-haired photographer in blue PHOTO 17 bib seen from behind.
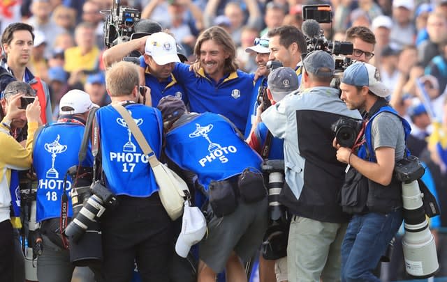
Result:
{"label": "short-haired photographer in blue PHOTO 17 bib seen from behind", "polygon": [[[124,118],[113,107],[121,104],[131,113],[158,159],[163,132],[161,113],[142,104],[138,82],[137,65],[125,61],[113,64],[105,72],[112,104],[95,113],[98,130],[94,130],[94,136],[101,141],[95,162],[102,175],[97,185],[114,194],[118,202],[113,208],[105,207],[102,216],[99,214],[102,272],[108,282],[131,281],[134,260],[142,281],[168,281],[172,256],[172,221],[161,205],[154,173]],[[100,194],[94,196],[101,198]],[[102,200],[106,204],[105,198]]]}

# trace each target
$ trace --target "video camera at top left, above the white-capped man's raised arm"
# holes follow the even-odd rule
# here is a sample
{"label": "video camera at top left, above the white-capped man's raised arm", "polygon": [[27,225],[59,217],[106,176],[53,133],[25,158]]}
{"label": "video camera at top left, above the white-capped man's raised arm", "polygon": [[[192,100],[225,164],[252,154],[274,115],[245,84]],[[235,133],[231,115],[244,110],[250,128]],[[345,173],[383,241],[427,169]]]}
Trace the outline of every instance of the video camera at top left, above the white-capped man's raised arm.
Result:
{"label": "video camera at top left, above the white-capped man's raised arm", "polygon": [[104,44],[112,47],[120,42],[127,42],[134,33],[133,26],[141,19],[141,12],[135,8],[119,6],[119,0],[114,0],[110,10],[101,10],[105,15]]}

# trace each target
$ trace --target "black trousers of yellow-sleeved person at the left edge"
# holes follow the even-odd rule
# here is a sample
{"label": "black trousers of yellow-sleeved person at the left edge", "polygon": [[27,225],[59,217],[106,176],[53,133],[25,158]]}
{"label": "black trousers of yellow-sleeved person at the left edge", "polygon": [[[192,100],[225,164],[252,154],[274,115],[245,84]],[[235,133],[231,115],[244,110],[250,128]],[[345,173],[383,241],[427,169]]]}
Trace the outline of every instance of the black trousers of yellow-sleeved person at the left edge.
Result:
{"label": "black trousers of yellow-sleeved person at the left edge", "polygon": [[0,222],[0,281],[14,281],[14,235],[9,219]]}

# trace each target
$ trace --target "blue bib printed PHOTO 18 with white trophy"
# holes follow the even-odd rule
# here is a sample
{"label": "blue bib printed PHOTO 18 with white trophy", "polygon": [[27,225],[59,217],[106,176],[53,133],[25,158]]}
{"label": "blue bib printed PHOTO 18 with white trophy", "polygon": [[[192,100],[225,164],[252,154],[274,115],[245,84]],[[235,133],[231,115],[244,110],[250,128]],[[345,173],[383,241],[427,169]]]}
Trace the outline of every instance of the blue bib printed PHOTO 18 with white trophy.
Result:
{"label": "blue bib printed PHOTO 18 with white trophy", "polygon": [[[33,150],[33,166],[38,178],[38,222],[61,216],[61,197],[64,193],[64,176],[71,166],[77,165],[84,125],[78,123],[53,123],[36,137]],[[92,166],[90,148],[82,166]],[[73,180],[67,176],[66,193],[71,191]],[[68,201],[68,217],[73,215]]]}

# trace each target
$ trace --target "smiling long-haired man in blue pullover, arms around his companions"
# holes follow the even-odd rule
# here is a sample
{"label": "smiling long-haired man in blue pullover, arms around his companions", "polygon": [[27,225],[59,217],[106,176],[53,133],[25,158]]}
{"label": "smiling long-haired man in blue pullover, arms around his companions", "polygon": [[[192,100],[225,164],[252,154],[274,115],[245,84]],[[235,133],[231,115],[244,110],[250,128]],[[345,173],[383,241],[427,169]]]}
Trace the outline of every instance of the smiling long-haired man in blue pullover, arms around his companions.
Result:
{"label": "smiling long-haired man in blue pullover, arms around his companions", "polygon": [[195,73],[177,63],[173,75],[185,88],[191,111],[220,113],[244,132],[254,75],[237,69],[236,49],[228,33],[212,26],[198,37],[194,54],[200,62]]}

